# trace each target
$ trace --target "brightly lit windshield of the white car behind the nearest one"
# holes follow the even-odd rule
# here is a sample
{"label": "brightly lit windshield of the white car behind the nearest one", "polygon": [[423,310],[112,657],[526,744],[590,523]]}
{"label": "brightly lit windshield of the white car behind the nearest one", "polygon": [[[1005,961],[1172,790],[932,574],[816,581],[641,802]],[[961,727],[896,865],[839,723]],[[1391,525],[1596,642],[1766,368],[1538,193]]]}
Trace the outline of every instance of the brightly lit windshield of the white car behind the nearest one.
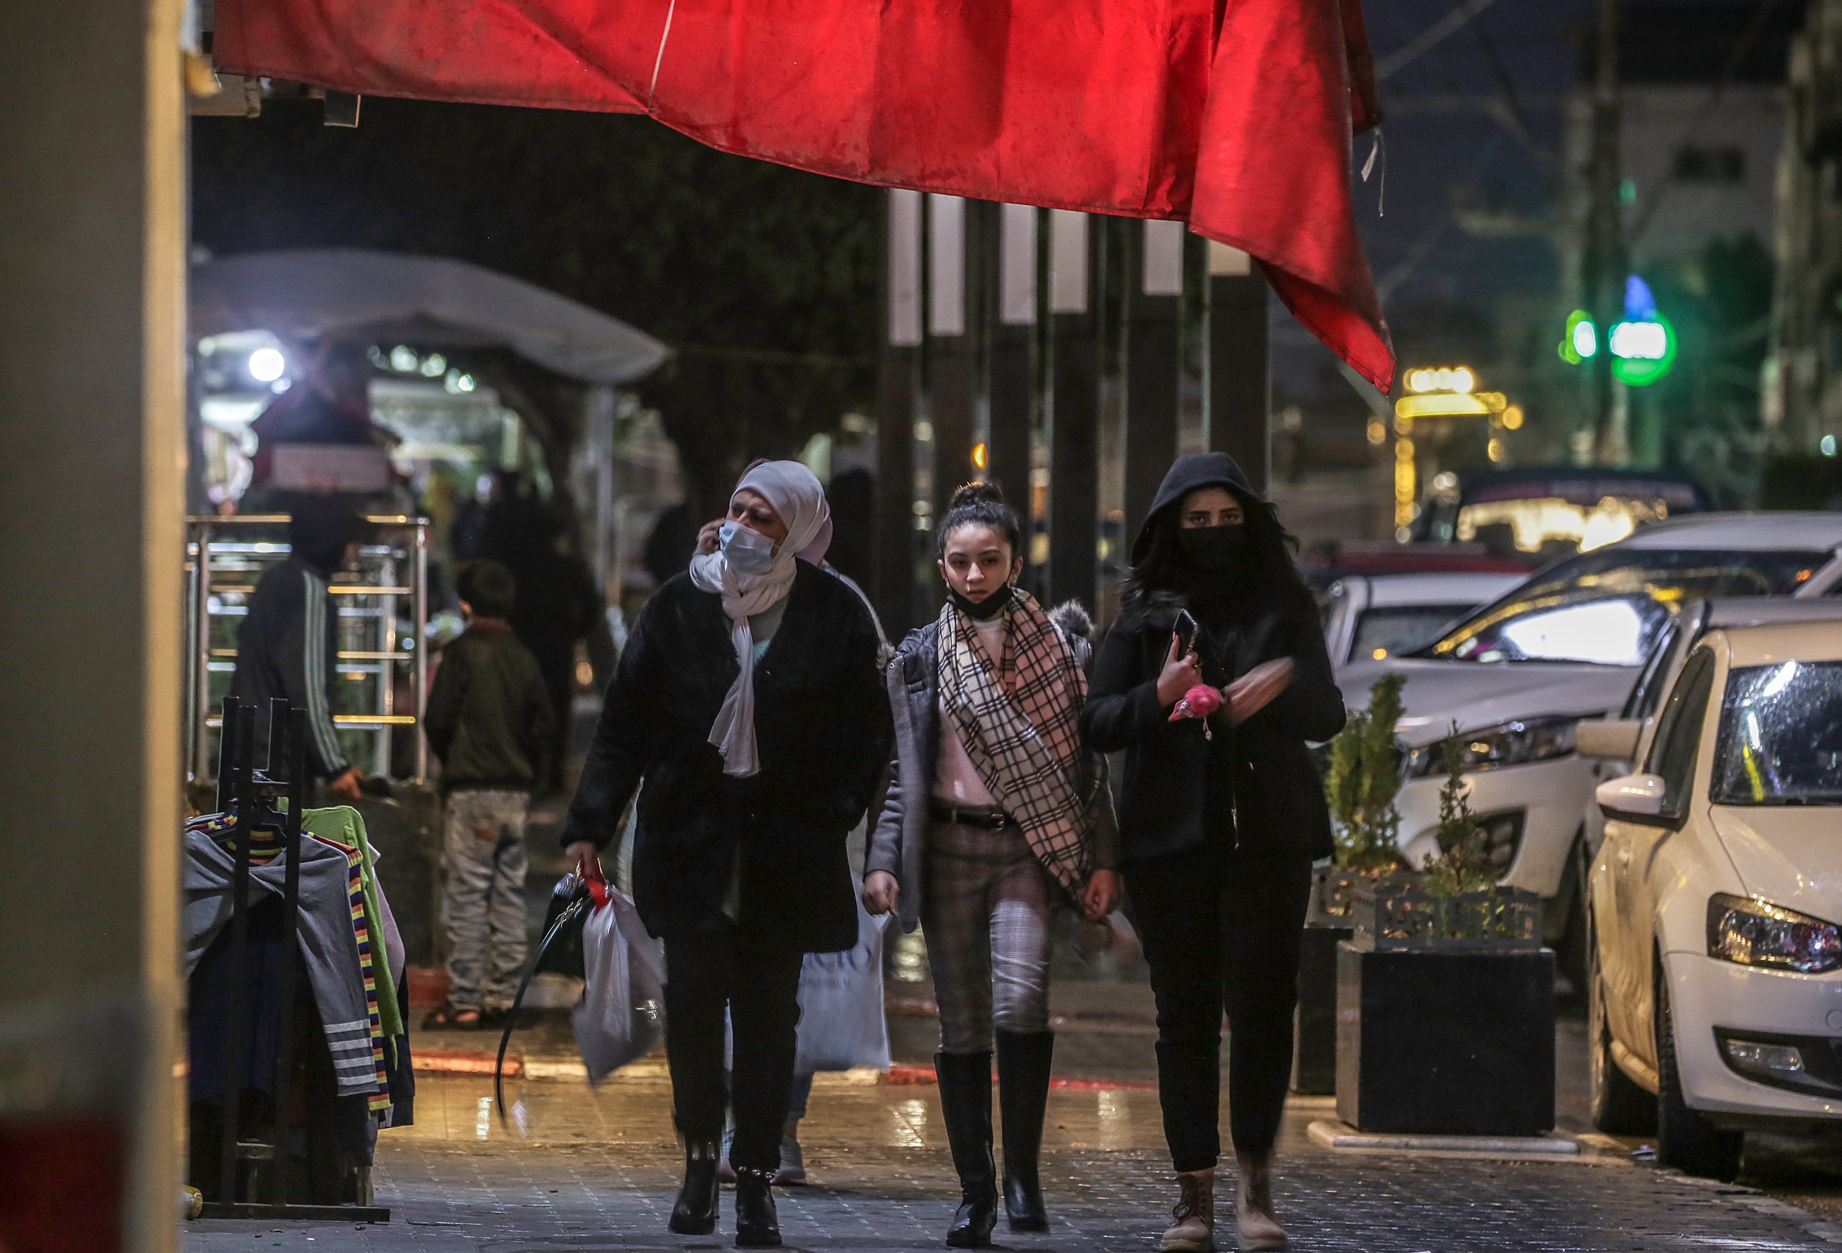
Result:
{"label": "brightly lit windshield of the white car behind the nearest one", "polygon": [[1687,601],[1789,595],[1827,553],[1612,547],[1549,566],[1415,656],[1448,662],[1643,665]]}

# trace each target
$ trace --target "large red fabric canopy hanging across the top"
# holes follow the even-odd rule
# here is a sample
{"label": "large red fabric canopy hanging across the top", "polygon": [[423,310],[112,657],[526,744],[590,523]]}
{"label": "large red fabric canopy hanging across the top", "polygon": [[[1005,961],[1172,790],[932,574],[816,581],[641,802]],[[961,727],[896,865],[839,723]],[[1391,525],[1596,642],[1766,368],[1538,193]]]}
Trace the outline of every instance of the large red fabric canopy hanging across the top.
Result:
{"label": "large red fabric canopy hanging across the top", "polygon": [[217,64],[365,96],[650,112],[888,186],[1175,217],[1387,391],[1350,205],[1359,0],[217,0]]}

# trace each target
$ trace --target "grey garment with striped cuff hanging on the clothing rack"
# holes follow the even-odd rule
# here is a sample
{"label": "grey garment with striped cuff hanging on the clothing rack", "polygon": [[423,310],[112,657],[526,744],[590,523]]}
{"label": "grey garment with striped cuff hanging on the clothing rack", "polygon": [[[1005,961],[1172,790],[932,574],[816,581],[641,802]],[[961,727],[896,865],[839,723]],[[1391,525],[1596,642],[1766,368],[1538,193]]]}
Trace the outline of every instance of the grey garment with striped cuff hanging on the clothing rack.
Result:
{"label": "grey garment with striped cuff hanging on the clothing rack", "polygon": [[[210,824],[197,824],[208,827]],[[252,855],[254,861],[254,855]],[[287,861],[271,857],[251,866],[251,903],[286,890]],[[236,857],[188,824],[184,870],[184,975],[230,921]],[[352,923],[352,864],[346,853],[319,840],[300,842],[300,956],[313,1001],[321,1010],[326,1047],[333,1056],[339,1093],[376,1093],[379,1067],[372,1065],[372,1008],[365,991],[357,931]],[[203,1041],[197,1048],[208,1048]]]}

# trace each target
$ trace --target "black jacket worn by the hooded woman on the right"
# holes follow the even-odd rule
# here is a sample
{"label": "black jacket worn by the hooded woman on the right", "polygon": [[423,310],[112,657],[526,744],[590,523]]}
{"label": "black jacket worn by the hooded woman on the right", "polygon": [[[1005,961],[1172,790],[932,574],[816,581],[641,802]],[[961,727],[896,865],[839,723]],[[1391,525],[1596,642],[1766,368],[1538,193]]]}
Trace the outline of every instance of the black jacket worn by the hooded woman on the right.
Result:
{"label": "black jacket worn by the hooded woman on the right", "polygon": [[[1153,595],[1127,604],[1100,645],[1081,730],[1098,752],[1125,752],[1120,781],[1120,859],[1164,857],[1210,838],[1253,855],[1328,857],[1330,809],[1306,741],[1343,730],[1343,695],[1330,678],[1324,632],[1310,593],[1256,612],[1199,645],[1203,680],[1218,687],[1260,662],[1288,656],[1297,669],[1271,704],[1230,728],[1210,719],[1216,739],[1195,719],[1170,720],[1157,676],[1184,601]],[[1229,770],[1232,818],[1210,831],[1210,772]]]}

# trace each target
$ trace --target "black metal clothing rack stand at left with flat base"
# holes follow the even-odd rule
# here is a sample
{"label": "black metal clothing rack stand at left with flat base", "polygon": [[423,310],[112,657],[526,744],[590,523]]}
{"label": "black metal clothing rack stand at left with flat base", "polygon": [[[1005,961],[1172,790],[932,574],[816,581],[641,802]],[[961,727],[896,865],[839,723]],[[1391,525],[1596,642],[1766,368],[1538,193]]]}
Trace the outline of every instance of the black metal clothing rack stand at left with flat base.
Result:
{"label": "black metal clothing rack stand at left with flat base", "polygon": [[[217,759],[217,811],[236,813],[230,840],[236,848],[236,879],[230,890],[230,1028],[225,1032],[225,1115],[217,1172],[225,1200],[206,1201],[203,1218],[333,1218],[391,1222],[381,1205],[291,1205],[287,1201],[287,1093],[293,1080],[295,962],[300,949],[300,813],[308,792],[308,711],[286,700],[269,702],[269,761],[256,768],[256,709],[225,697],[223,746]],[[280,767],[286,763],[286,776]],[[286,807],[278,802],[286,802]],[[249,956],[249,855],[256,831],[280,831],[284,842],[282,894],[282,1023],[274,1048],[274,1142],[243,1139],[239,1095],[249,1056],[251,1008],[243,1004],[243,969]],[[269,1163],[269,1200],[258,1201],[256,1163]],[[249,1170],[245,1170],[249,1166]],[[241,1187],[239,1187],[241,1185]],[[249,1200],[238,1200],[249,1194]]]}

